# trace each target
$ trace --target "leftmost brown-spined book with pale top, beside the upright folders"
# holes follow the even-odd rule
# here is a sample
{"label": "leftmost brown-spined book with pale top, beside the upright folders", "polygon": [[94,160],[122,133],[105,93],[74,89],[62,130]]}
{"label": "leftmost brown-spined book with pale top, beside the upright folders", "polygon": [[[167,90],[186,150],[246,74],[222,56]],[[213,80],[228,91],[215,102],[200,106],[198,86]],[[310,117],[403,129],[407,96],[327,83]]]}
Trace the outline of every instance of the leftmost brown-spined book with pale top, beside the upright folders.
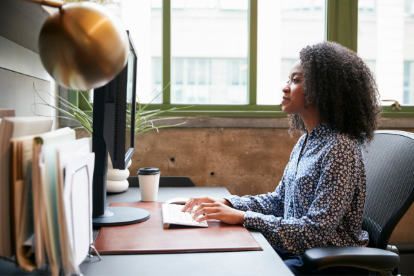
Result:
{"label": "leftmost brown-spined book with pale top, beside the upright folders", "polygon": [[10,139],[39,135],[52,128],[45,117],[4,117],[0,124],[0,255],[12,257],[12,217],[10,216]]}

